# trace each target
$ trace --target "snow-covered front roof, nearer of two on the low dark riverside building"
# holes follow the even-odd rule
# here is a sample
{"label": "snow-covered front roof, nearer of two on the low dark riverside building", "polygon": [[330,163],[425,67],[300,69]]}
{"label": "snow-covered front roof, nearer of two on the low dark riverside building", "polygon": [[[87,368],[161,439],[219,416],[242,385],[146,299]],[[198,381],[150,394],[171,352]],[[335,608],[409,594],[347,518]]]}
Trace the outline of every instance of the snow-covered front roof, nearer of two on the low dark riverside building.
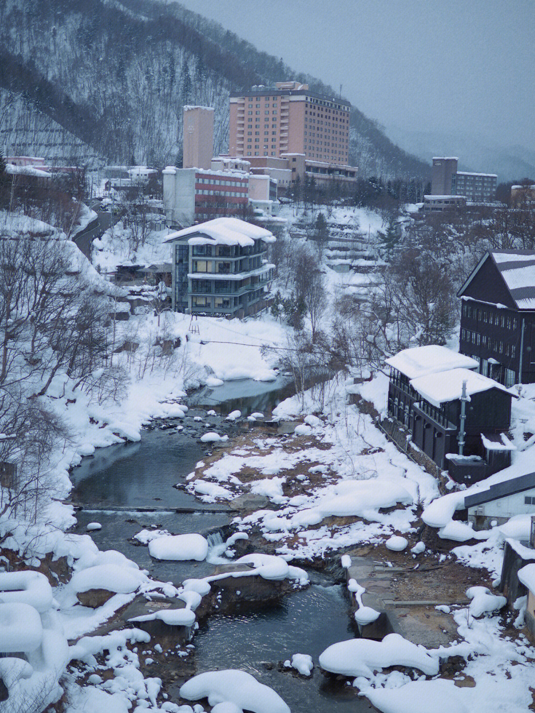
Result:
{"label": "snow-covered front roof, nearer of two on the low dark riverside building", "polygon": [[420,396],[423,396],[425,401],[429,401],[433,406],[439,407],[440,404],[445,404],[447,401],[457,401],[457,399],[461,398],[464,381],[467,384],[467,396],[479,394],[481,391],[489,391],[489,389],[499,389],[499,391],[504,391],[509,396],[513,396],[498,381],[489,379],[488,376],[483,376],[483,374],[478,374],[477,371],[471,371],[470,369],[450,369],[449,371],[441,371],[440,374],[426,374],[425,376],[419,376],[417,379],[411,379],[410,385]]}

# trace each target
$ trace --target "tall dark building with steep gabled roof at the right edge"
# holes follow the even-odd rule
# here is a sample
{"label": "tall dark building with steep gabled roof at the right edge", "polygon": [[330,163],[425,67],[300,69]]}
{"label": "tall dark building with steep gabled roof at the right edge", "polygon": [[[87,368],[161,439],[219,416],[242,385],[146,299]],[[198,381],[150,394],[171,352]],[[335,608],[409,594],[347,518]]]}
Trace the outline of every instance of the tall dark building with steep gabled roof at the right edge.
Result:
{"label": "tall dark building with steep gabled roof at the right edge", "polygon": [[459,352],[505,386],[535,381],[535,250],[491,250],[458,292]]}

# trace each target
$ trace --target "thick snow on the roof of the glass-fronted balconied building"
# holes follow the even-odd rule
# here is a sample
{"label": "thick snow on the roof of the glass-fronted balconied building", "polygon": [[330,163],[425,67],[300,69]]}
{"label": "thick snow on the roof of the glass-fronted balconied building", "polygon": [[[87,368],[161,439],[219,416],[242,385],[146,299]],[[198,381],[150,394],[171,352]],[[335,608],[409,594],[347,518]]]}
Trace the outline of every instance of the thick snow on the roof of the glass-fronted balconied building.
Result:
{"label": "thick snow on the roof of the glass-fronted balconied building", "polygon": [[214,218],[199,225],[192,225],[172,232],[165,242],[174,242],[184,237],[189,237],[189,245],[254,245],[255,240],[275,242],[276,237],[272,232],[259,225],[252,225],[244,220],[233,217]]}

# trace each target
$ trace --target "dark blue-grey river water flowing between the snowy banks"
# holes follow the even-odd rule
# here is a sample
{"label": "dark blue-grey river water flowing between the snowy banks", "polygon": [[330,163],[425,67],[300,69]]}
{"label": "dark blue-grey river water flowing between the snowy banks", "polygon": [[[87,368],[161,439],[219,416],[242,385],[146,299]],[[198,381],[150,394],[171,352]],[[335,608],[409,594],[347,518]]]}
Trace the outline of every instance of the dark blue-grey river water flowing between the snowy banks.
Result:
{"label": "dark blue-grey river water flowing between the snowy banks", "polygon": [[[244,415],[271,411],[278,401],[290,395],[280,383],[278,391],[266,388],[273,384],[233,382],[227,391],[219,392],[221,396],[229,396],[231,389],[230,401],[218,396],[218,404],[204,403],[204,396],[197,392],[195,398],[199,401],[195,404],[190,401],[192,410],[181,421],[184,431],[144,431],[139,443],[102,448],[94,456],[83,458],[81,465],[71,473],[72,500],[83,504],[76,515],[78,532],[85,532],[90,522],[100,523],[102,529],[91,533],[100,549],[119,550],[160,581],[179,585],[186,578],[212,573],[213,563],[222,554],[222,537],[217,528],[229,523],[234,513],[222,512],[225,506],[205,507],[189,493],[173,487],[185,482],[185,476],[202,460],[206,449],[204,444],[197,443],[202,424],[194,423],[192,417],[198,413],[194,409],[199,409],[203,401],[205,408],[214,408],[222,414],[235,408]],[[256,393],[255,389],[258,389]],[[219,417],[212,420],[223,425]],[[214,424],[214,430],[217,425]],[[152,511],[145,511],[147,508]],[[182,508],[182,512],[175,508]],[[219,508],[219,511],[207,512],[207,508]],[[166,529],[175,534],[204,533],[210,543],[207,561],[152,560],[146,546],[135,545],[131,540],[143,528]],[[311,581],[312,585],[306,590],[284,597],[279,604],[235,616],[209,617],[193,640],[197,671],[224,668],[248,671],[274,688],[289,704],[292,713],[371,710],[353,687],[333,682],[316,669],[310,678],[300,677],[290,670],[278,670],[279,662],[294,653],[309,654],[317,664],[318,655],[328,645],[355,635],[349,623],[344,588],[313,572]],[[171,699],[177,692],[178,684],[170,689]]]}

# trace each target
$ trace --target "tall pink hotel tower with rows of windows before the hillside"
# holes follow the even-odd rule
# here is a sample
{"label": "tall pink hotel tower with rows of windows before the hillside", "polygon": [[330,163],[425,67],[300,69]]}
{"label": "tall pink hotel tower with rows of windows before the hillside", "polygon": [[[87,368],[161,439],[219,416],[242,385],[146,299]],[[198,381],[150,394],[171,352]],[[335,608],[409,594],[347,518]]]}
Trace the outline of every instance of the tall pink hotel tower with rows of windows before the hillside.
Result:
{"label": "tall pink hotel tower with rows of windows before the hillside", "polygon": [[231,94],[229,155],[301,153],[309,160],[347,165],[350,108],[298,82]]}

